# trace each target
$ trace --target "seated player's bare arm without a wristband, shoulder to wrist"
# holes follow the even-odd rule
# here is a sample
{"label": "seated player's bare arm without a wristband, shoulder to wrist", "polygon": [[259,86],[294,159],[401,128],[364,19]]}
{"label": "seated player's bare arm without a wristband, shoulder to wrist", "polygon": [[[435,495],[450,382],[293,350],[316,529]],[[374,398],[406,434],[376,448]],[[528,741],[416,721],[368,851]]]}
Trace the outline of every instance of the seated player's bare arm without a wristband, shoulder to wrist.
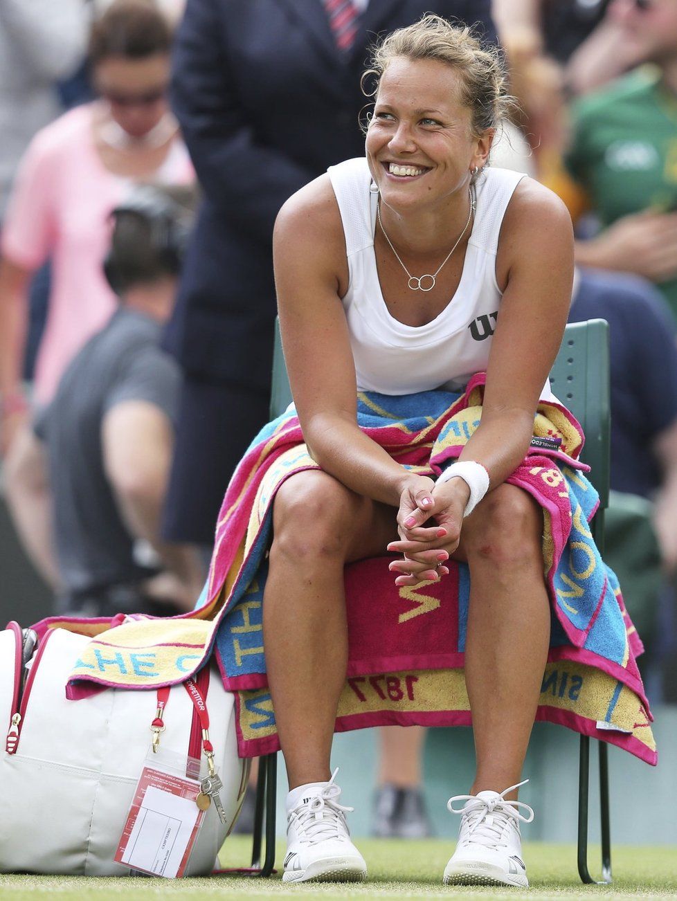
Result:
{"label": "seated player's bare arm without a wristband, shoulder to wrist", "polygon": [[348,279],[345,243],[328,176],[282,207],[273,256],[282,344],[308,449],[343,485],[398,506],[411,474],[357,425],[355,368],[341,303]]}

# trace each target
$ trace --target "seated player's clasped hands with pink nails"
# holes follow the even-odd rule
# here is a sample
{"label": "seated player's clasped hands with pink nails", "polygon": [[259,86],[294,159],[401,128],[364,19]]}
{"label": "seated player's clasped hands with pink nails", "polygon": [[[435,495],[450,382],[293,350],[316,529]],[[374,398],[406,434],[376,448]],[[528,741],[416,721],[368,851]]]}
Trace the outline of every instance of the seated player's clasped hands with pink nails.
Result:
{"label": "seated player's clasped hands with pink nails", "polygon": [[389,564],[390,572],[397,576],[396,585],[439,581],[449,574],[445,564],[461,541],[463,511],[469,497],[470,488],[462,478],[439,486],[427,476],[407,478],[399,499],[400,540],[388,545],[389,551],[402,554],[401,560]]}

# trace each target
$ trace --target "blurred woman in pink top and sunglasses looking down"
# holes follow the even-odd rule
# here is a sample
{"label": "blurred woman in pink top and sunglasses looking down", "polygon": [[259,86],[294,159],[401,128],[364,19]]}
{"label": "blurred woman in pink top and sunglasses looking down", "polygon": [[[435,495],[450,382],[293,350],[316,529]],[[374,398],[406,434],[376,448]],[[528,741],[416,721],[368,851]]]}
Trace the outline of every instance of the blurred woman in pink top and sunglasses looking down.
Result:
{"label": "blurred woman in pink top and sunglasses looking down", "polygon": [[[99,98],[38,132],[7,210],[0,247],[0,450],[6,454],[5,493],[14,524],[24,541],[38,546],[42,536],[35,523],[43,501],[22,385],[29,281],[50,257],[49,311],[33,385],[34,404],[42,407],[70,359],[114,310],[101,268],[111,211],[134,182],[193,180],[166,99],[170,47],[169,23],[151,0],[114,0],[90,36]],[[13,493],[18,481],[20,505]],[[52,585],[58,583],[49,564],[41,569]]]}

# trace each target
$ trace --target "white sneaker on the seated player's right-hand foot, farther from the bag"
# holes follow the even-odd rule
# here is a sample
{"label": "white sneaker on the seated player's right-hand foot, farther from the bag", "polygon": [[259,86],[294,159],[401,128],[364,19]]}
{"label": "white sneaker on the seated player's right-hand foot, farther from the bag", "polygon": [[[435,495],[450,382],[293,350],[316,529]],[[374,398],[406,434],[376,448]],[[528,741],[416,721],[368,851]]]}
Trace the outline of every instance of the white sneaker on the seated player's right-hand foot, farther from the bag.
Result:
{"label": "white sneaker on the seated player's right-hand foot, farther from the bag", "polygon": [[[476,796],[456,795],[447,807],[461,815],[461,830],[453,857],[444,870],[444,885],[500,885],[526,888],[526,866],[522,860],[519,821],[531,823],[534,811],[521,801],[507,801],[504,795],[519,786],[510,786],[500,794],[480,791]],[[465,801],[461,809],[454,801]],[[528,815],[520,814],[523,807]]]}

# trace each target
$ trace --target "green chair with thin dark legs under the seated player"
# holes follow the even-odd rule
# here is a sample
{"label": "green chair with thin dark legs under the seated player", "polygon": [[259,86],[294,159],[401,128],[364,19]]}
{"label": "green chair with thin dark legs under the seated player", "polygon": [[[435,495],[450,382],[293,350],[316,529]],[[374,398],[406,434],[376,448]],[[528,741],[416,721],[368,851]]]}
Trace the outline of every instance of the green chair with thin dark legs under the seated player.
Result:
{"label": "green chair with thin dark legs under the seated player", "polygon": [[[608,323],[591,319],[572,323],[564,331],[562,347],[550,375],[556,396],[576,416],[585,432],[582,460],[591,467],[590,481],[599,492],[599,509],[592,533],[599,551],[604,551],[604,510],[609,490],[609,359]],[[291,402],[279,327],[275,330],[275,351],[270,398],[271,417],[279,416]],[[602,880],[611,881],[611,843],[608,813],[607,744],[599,745],[599,789],[601,806]],[[275,791],[277,755],[261,758],[254,817],[252,868],[261,876],[272,872],[275,858]],[[588,806],[590,795],[590,738],[581,735],[579,776],[578,869],[583,882],[594,883],[588,869]],[[261,867],[263,814],[266,821],[266,855]]]}

